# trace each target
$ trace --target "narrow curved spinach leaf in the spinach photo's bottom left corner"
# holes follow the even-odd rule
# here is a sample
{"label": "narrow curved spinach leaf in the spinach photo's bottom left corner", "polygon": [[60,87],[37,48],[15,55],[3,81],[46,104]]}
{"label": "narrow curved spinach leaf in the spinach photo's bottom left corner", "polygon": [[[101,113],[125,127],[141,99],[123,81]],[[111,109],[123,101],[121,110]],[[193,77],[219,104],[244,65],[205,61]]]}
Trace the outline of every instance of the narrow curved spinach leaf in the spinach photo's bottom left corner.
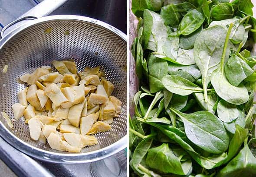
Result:
{"label": "narrow curved spinach leaf in the spinach photo's bottom left corner", "polygon": [[148,150],[150,149],[152,141],[153,139],[150,138],[142,140],[133,152],[132,164],[135,170],[140,174],[144,173],[140,169],[138,169],[138,166],[141,163],[144,156],[147,154]]}

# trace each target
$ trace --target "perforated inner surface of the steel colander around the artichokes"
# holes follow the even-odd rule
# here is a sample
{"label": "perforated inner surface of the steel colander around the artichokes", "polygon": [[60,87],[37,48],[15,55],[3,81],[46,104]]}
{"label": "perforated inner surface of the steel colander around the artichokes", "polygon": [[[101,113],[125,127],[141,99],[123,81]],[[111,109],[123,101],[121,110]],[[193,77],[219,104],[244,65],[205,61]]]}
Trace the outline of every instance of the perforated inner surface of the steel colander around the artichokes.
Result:
{"label": "perforated inner surface of the steel colander around the artichokes", "polygon": [[[45,30],[51,28],[50,33]],[[69,35],[64,32],[68,30]],[[51,66],[52,60],[75,60],[79,71],[85,66],[100,66],[106,79],[115,85],[112,95],[122,101],[122,113],[111,124],[112,129],[98,133],[98,145],[82,149],[92,152],[114,142],[127,134],[127,44],[118,35],[89,22],[59,20],[34,25],[11,38],[0,49],[0,68],[8,65],[7,73],[0,73],[0,111],[11,118],[13,130],[0,115],[0,121],[13,136],[39,149],[53,150],[46,144],[30,139],[29,129],[24,118],[15,120],[12,105],[18,102],[17,93],[27,85],[19,81],[20,76],[32,73],[42,65]],[[69,152],[59,152],[69,153]]]}

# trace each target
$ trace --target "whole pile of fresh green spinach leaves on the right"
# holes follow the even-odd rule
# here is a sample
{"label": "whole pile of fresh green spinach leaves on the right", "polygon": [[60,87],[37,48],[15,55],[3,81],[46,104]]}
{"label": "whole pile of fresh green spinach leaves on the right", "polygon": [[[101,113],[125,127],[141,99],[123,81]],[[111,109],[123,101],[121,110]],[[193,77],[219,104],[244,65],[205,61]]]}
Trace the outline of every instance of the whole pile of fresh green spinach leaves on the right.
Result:
{"label": "whole pile of fresh green spinach leaves on the right", "polygon": [[250,0],[132,0],[140,89],[130,176],[256,176],[252,8]]}

